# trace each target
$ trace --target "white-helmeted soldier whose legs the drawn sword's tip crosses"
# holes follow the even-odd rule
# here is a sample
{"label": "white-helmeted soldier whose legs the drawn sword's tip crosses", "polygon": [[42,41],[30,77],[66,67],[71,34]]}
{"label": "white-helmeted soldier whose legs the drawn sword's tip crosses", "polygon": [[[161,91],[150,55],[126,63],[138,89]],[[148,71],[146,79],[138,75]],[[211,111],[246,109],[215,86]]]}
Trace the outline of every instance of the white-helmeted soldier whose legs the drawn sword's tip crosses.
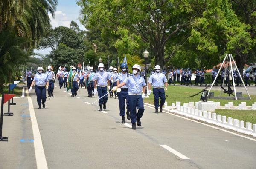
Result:
{"label": "white-helmeted soldier whose legs the drawn sword's tip crosses", "polygon": [[[107,72],[104,71],[104,64],[99,63],[98,65],[99,73],[96,73],[94,76],[94,93],[98,93],[99,98],[99,111],[107,109],[106,103],[108,102],[108,89],[110,89],[110,77]],[[110,94],[111,95],[111,94]]]}

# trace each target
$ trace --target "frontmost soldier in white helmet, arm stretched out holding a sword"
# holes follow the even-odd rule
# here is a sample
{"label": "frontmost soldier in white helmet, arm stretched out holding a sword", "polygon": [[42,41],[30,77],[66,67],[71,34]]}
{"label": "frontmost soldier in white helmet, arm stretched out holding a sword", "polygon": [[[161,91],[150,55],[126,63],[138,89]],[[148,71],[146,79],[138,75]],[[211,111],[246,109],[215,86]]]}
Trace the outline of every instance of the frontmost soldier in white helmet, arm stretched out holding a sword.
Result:
{"label": "frontmost soldier in white helmet, arm stretched out holding a sword", "polygon": [[[140,65],[135,64],[132,67],[132,76],[126,77],[123,83],[113,87],[112,91],[120,92],[120,87],[128,86],[128,95],[129,95],[129,108],[131,112],[131,123],[132,128],[136,129],[136,121],[137,125],[141,126],[141,117],[144,113],[144,105],[143,105],[143,98],[145,97],[145,91],[146,91],[146,83],[145,79],[140,76]],[[143,93],[142,92],[143,88]],[[136,113],[136,108],[138,109],[138,113]],[[137,118],[136,118],[137,117]]]}

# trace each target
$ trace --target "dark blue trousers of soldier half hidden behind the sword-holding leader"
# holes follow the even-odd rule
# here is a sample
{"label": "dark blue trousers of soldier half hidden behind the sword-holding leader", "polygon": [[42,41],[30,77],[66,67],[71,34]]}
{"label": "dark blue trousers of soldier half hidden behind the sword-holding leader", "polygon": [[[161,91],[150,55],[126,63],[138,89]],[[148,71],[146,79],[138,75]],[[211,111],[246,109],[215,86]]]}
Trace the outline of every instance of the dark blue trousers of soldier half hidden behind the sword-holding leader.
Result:
{"label": "dark blue trousers of soldier half hidden behind the sword-holding leader", "polygon": [[129,108],[129,95],[128,90],[124,91],[121,90],[121,92],[117,93],[118,101],[119,101],[119,110],[120,110],[120,116],[125,116],[125,100],[126,100],[126,109],[130,111]]}

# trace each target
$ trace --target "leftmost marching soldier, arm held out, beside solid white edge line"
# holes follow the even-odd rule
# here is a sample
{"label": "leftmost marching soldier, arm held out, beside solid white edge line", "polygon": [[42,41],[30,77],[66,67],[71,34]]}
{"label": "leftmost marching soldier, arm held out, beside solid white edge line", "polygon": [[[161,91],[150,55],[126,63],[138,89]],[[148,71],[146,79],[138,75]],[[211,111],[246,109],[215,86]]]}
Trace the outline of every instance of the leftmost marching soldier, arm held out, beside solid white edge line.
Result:
{"label": "leftmost marching soldier, arm held out, beside solid white edge line", "polygon": [[49,82],[46,74],[43,74],[44,69],[42,67],[38,67],[38,74],[35,75],[34,80],[29,88],[29,92],[32,90],[32,87],[35,84],[35,93],[38,102],[38,109],[41,109],[41,103],[43,103],[43,107],[45,108],[46,101],[46,89],[48,89]]}

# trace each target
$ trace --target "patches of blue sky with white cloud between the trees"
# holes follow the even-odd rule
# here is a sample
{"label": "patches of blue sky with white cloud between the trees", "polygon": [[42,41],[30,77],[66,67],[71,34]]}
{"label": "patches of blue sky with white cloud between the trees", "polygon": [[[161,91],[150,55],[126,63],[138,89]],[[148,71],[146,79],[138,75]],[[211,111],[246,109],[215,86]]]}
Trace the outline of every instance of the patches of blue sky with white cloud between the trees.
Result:
{"label": "patches of blue sky with white cloud between the trees", "polygon": [[[58,0],[57,10],[55,11],[55,18],[50,15],[52,27],[67,26],[70,22],[75,21],[81,30],[85,30],[84,26],[79,22],[79,13],[81,7],[76,4],[76,0]],[[36,53],[49,54],[52,49],[35,50]]]}

